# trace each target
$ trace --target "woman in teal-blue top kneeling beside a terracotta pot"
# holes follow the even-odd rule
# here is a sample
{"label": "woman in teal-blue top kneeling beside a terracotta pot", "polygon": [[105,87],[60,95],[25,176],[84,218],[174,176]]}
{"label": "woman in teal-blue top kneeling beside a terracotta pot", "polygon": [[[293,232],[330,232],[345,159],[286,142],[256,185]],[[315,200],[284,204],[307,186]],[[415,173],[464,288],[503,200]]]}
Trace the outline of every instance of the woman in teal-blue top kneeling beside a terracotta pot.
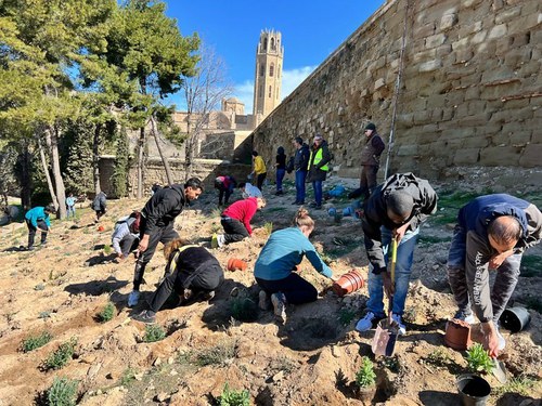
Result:
{"label": "woman in teal-blue top kneeling beside a terracotta pot", "polygon": [[318,299],[318,291],[294,270],[304,257],[324,276],[336,280],[332,270],[322,261],[309,235],[314,230],[314,220],[300,208],[294,218],[294,226],[271,234],[254,266],[254,276],[262,289],[259,306],[269,309],[269,297],[278,322],[286,323],[286,303],[300,304]]}

